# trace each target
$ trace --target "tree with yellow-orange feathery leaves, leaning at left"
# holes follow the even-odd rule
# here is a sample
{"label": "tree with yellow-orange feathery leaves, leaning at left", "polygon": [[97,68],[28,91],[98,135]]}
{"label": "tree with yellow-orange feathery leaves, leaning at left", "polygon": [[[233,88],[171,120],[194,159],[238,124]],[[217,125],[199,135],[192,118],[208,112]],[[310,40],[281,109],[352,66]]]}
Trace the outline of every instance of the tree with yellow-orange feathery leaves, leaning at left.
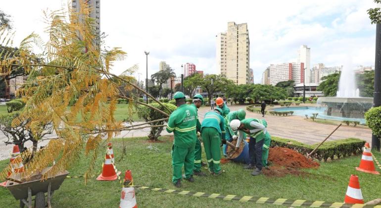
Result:
{"label": "tree with yellow-orange feathery leaves, leaning at left", "polygon": [[[17,56],[1,52],[4,53],[0,60],[0,76],[20,69],[29,74],[27,82],[17,91],[26,105],[12,124],[28,121],[27,127],[33,135],[41,135],[42,127],[51,123],[58,136],[25,165],[25,178],[36,170],[51,166],[53,161],[55,164],[44,178],[65,170],[85,149],[92,158],[85,173],[87,180],[94,173],[102,139],[109,140],[120,130],[133,128],[126,128],[114,120],[117,99],[134,101],[129,102],[130,112],[133,104],[143,104],[134,99],[133,93],[120,95],[118,90],[123,83],[126,91],[136,89],[144,93],[131,76],[137,66],[128,68],[119,76],[110,73],[113,62],[122,60],[126,53],[119,48],[100,50],[101,37],[95,35],[95,21],[90,18],[90,8],[86,1],[80,2],[79,12],[70,9],[45,12],[49,22],[47,43],[42,43],[39,36],[32,33],[21,42]],[[1,45],[11,45],[12,36],[6,27],[0,28]],[[41,47],[44,53],[32,53],[35,46]],[[23,156],[28,157],[28,154]],[[1,172],[1,179],[7,176],[9,168]]]}

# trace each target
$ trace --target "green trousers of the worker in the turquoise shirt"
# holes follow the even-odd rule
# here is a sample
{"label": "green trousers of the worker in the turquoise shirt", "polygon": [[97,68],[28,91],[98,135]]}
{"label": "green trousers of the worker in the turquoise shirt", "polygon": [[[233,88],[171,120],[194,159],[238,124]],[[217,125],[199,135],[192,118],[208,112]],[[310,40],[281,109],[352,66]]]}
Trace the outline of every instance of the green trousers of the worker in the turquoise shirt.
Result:
{"label": "green trousers of the worker in the turquoise shirt", "polygon": [[221,134],[213,127],[204,127],[201,130],[202,142],[204,143],[205,155],[209,165],[209,171],[218,173],[221,171]]}

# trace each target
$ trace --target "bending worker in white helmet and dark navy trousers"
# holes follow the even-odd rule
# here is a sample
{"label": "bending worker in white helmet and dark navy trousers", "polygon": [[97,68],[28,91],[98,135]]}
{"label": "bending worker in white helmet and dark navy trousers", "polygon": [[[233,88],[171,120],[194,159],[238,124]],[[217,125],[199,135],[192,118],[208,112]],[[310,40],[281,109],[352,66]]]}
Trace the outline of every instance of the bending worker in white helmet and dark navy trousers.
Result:
{"label": "bending worker in white helmet and dark navy trousers", "polygon": [[[267,125],[267,123],[266,123]],[[243,138],[243,133],[250,136],[249,141],[249,157],[250,163],[245,166],[245,169],[254,169],[251,175],[256,176],[262,173],[262,148],[264,144],[264,138],[267,133],[264,120],[256,118],[246,118],[243,120],[232,120],[230,127],[233,131],[238,130],[238,141],[236,151],[239,149],[239,145]]]}

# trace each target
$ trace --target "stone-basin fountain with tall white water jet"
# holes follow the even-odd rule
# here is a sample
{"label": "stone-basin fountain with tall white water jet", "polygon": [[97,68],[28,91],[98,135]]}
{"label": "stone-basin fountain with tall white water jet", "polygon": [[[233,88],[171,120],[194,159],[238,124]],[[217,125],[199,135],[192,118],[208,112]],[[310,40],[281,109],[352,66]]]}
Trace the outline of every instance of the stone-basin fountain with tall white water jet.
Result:
{"label": "stone-basin fountain with tall white water jet", "polygon": [[320,97],[317,103],[327,106],[324,111],[327,116],[354,121],[361,119],[364,123],[364,113],[372,107],[373,98],[360,97],[353,69],[351,64],[342,68],[336,97]]}

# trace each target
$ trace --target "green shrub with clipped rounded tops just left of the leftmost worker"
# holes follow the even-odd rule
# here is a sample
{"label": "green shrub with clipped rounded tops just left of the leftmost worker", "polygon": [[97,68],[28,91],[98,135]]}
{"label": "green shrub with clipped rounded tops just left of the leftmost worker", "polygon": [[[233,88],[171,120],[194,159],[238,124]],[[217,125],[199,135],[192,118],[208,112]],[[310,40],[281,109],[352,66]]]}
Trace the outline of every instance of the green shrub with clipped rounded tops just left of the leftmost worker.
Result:
{"label": "green shrub with clipped rounded tops just left of the leftmost worker", "polygon": [[[160,104],[157,104],[157,103],[154,103],[154,104],[149,104],[153,107],[156,107],[168,114],[171,114],[172,111],[174,111],[177,107],[173,104],[166,104],[164,103],[164,105],[171,110],[168,111],[167,109],[165,109],[163,106],[161,106]],[[158,112],[157,110],[154,110],[150,107],[147,107],[147,106],[144,106],[144,105],[140,105],[138,107],[138,116],[140,118],[143,118],[146,122],[149,122],[149,121],[153,121],[153,120],[157,120],[157,119],[161,119],[161,118],[164,118],[164,115],[161,114],[160,112]],[[153,122],[153,123],[149,123],[149,125],[151,126],[156,126],[156,125],[163,125],[165,121],[157,121],[157,122]],[[151,130],[149,132],[149,135],[148,135],[148,138],[150,140],[154,140],[154,141],[157,141],[157,138],[160,136],[161,134],[161,131],[163,131],[163,127],[151,127]]]}

